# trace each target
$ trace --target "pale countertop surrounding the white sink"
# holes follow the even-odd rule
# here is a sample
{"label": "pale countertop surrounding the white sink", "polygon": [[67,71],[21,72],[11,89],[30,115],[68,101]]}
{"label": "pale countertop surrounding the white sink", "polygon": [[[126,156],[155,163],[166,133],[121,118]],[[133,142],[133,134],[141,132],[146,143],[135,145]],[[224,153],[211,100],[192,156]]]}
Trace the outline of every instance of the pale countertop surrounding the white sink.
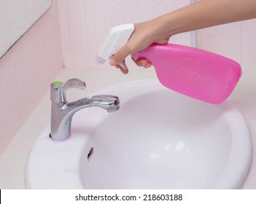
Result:
{"label": "pale countertop surrounding the white sink", "polygon": [[[256,65],[243,65],[243,74],[236,89],[228,98],[243,114],[252,136],[252,163],[241,189],[256,189]],[[136,79],[156,78],[153,68],[132,69],[124,75],[115,68],[63,69],[55,80],[79,78],[86,83],[85,90],[73,90],[67,93],[68,101],[74,95],[82,98],[98,90]],[[50,87],[50,86],[49,86]],[[50,88],[35,107],[7,149],[0,155],[0,189],[26,189],[26,160],[36,138],[50,123]]]}

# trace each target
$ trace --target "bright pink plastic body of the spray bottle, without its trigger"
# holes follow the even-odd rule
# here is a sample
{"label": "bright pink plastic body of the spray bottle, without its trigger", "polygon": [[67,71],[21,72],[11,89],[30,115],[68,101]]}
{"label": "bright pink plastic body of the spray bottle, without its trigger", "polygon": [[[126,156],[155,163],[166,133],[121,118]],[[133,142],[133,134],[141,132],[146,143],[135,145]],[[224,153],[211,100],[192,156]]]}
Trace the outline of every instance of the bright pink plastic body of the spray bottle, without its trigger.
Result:
{"label": "bright pink plastic body of the spray bottle, without its trigger", "polygon": [[165,87],[208,103],[225,101],[241,76],[236,61],[177,44],[152,44],[132,57],[150,62]]}

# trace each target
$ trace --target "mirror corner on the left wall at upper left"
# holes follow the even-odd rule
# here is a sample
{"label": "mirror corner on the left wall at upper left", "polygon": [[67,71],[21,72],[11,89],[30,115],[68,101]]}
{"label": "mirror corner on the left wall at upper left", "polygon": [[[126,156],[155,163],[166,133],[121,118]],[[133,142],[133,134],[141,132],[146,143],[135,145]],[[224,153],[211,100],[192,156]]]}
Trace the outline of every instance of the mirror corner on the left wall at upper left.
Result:
{"label": "mirror corner on the left wall at upper left", "polygon": [[51,7],[51,0],[0,0],[0,58]]}

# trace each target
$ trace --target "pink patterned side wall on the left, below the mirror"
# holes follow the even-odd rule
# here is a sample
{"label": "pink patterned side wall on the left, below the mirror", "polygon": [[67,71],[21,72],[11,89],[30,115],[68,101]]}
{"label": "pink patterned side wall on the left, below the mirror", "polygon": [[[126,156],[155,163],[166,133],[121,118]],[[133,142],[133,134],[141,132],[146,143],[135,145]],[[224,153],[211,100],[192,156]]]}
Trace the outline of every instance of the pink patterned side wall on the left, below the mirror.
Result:
{"label": "pink patterned side wall on the left, below the mirror", "polygon": [[57,1],[0,60],[0,153],[63,67]]}

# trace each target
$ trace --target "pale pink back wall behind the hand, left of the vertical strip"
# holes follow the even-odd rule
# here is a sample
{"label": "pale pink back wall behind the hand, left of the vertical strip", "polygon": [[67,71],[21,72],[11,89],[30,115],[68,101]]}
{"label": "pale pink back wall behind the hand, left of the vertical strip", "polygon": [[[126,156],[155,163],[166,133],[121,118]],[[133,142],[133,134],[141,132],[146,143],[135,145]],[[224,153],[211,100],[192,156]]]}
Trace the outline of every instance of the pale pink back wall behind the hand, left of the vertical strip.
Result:
{"label": "pale pink back wall behind the hand, left of the vertical strip", "polygon": [[[64,65],[92,68],[110,28],[149,20],[187,4],[189,0],[58,0]],[[171,42],[190,44],[190,34],[174,36]]]}

